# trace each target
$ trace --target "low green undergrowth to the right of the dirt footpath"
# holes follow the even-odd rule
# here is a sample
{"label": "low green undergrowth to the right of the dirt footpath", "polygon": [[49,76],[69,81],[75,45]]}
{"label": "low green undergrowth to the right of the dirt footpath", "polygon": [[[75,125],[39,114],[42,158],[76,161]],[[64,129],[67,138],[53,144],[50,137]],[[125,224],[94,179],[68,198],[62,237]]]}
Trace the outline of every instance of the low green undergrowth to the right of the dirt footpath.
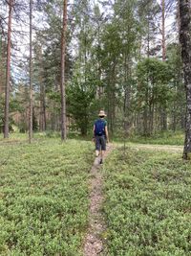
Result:
{"label": "low green undergrowth to the right of the dirt footpath", "polygon": [[102,172],[108,255],[191,255],[190,162],[177,153],[117,150]]}

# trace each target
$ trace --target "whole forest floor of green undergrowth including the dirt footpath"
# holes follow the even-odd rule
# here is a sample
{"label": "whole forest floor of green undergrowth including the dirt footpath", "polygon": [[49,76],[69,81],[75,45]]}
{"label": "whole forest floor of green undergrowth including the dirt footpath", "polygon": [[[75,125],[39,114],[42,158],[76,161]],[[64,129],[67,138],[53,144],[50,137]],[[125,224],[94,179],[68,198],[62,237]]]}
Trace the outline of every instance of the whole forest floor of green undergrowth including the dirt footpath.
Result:
{"label": "whole forest floor of green undergrowth including the dirt footpath", "polygon": [[[183,146],[0,140],[0,255],[190,255]],[[65,254],[63,254],[63,251]]]}

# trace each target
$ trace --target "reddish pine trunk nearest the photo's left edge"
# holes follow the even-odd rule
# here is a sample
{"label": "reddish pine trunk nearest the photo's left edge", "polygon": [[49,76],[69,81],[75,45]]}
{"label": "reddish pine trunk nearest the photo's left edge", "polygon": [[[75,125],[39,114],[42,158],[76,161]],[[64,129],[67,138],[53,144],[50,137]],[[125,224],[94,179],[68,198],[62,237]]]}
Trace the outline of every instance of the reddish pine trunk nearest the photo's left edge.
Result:
{"label": "reddish pine trunk nearest the photo's left edge", "polygon": [[9,21],[8,21],[6,91],[5,91],[4,138],[9,138],[10,73],[11,73],[11,17],[12,17],[12,10],[13,10],[13,0],[10,0],[8,4],[9,4]]}

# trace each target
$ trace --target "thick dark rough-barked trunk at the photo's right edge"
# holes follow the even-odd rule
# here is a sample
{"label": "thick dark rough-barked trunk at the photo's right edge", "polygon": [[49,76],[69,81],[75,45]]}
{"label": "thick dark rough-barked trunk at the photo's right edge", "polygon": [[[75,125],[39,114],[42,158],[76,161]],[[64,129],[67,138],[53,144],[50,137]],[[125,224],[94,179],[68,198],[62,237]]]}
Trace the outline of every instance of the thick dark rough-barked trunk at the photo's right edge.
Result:
{"label": "thick dark rough-barked trunk at the photo's right edge", "polygon": [[183,158],[191,159],[191,9],[190,0],[180,0],[180,45],[186,91],[186,125]]}

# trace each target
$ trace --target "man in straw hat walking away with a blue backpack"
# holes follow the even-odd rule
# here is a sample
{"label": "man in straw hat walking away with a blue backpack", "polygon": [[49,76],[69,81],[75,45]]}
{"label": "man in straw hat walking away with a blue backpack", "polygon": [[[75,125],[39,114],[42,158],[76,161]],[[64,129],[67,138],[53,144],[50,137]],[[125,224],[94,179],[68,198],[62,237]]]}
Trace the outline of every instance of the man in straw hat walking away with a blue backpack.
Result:
{"label": "man in straw hat walking away with a blue backpack", "polygon": [[96,120],[93,128],[93,138],[96,142],[96,156],[100,155],[100,164],[103,163],[103,155],[106,151],[106,141],[109,143],[106,114],[104,110],[99,111],[99,119]]}

